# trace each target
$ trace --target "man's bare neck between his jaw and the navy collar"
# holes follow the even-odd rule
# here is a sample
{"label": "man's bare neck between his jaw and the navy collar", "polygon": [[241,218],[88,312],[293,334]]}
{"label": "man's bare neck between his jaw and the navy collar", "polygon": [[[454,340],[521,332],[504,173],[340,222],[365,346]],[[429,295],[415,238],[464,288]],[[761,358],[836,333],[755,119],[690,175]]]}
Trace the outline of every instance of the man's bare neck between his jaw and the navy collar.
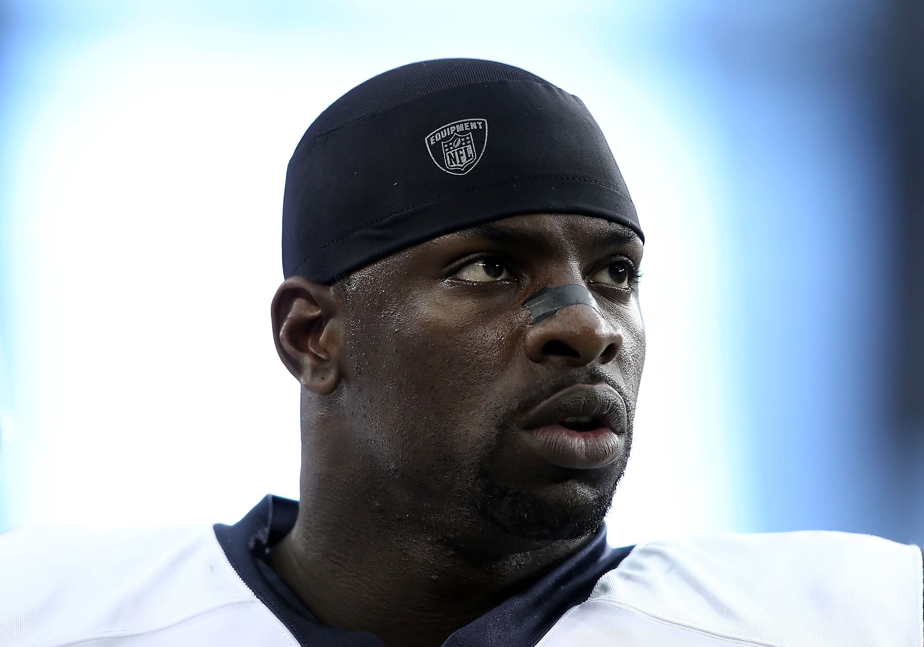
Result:
{"label": "man's bare neck between his jaw and the navy collar", "polygon": [[325,625],[386,647],[439,647],[589,541],[526,541],[477,513],[421,512],[413,486],[370,464],[333,399],[303,391],[298,519],[270,554]]}

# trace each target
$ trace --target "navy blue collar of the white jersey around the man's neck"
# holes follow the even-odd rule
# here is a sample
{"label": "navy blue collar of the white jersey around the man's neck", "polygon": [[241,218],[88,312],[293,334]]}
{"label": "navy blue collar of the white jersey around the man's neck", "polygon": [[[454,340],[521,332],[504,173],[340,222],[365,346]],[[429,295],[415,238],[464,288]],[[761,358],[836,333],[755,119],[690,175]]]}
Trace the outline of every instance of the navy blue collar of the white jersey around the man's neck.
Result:
{"label": "navy blue collar of the white jersey around the man's neck", "polygon": [[[268,549],[292,530],[297,515],[298,501],[267,494],[233,526],[215,524],[215,536],[241,580],[303,647],[383,647],[371,633],[325,626],[264,561]],[[597,580],[631,550],[632,546],[610,548],[602,528],[528,589],[458,629],[444,647],[533,647],[568,609],[587,600]]]}

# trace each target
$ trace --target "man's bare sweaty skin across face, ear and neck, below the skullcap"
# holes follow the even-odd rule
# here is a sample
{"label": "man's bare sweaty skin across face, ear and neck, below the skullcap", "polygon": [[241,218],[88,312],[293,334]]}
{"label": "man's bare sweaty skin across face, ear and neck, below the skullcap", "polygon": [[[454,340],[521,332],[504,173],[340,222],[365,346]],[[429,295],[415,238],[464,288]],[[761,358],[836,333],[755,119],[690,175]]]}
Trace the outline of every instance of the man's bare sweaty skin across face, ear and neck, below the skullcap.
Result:
{"label": "man's bare sweaty skin across face, ear and neck, below the skullcap", "polygon": [[[273,568],[326,624],[436,647],[602,524],[645,355],[624,226],[531,214],[436,238],[273,302],[301,383],[298,520]],[[543,287],[590,289],[529,326]],[[594,412],[588,427],[557,423]],[[597,415],[599,413],[599,415]]]}

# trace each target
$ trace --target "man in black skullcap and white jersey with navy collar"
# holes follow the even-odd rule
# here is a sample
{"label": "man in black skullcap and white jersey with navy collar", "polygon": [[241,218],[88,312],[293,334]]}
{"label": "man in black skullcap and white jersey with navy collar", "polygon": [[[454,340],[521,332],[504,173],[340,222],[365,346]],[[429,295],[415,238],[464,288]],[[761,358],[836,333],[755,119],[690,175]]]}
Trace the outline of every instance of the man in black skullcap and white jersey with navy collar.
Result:
{"label": "man in black skullcap and white jersey with navy collar", "polygon": [[547,81],[456,59],[347,92],[286,177],[272,317],[301,384],[300,500],[7,533],[0,643],[921,645],[914,546],[607,547],[642,245],[600,129]]}

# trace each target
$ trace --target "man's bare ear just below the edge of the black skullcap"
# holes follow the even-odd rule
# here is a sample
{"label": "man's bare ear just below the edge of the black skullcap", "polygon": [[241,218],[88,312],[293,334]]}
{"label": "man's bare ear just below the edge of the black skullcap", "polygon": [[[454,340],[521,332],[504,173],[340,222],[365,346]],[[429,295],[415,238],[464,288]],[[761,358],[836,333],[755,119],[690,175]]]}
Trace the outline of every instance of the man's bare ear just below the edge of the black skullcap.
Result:
{"label": "man's bare ear just below the edge of the black skullcap", "polygon": [[340,306],[331,287],[290,276],[273,298],[279,358],[309,391],[326,396],[340,384]]}

